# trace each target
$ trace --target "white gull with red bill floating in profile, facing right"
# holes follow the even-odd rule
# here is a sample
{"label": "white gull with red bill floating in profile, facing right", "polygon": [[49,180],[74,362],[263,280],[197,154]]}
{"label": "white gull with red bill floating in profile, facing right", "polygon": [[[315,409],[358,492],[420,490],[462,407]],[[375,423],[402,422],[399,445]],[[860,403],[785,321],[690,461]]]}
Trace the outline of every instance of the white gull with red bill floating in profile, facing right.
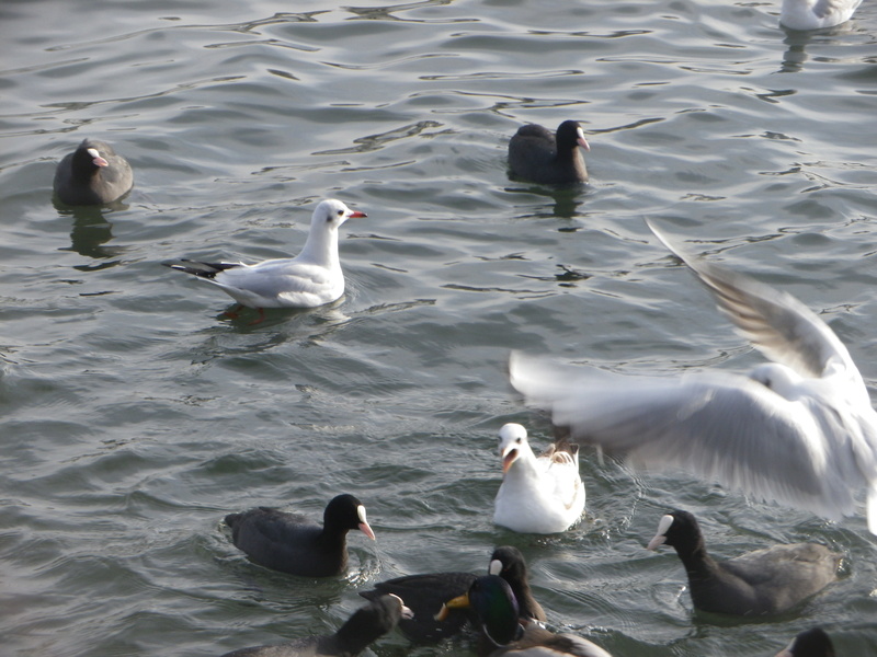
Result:
{"label": "white gull with red bill floating in profile, facing right", "polygon": [[[243,263],[164,263],[172,269],[212,283],[241,306],[254,308],[316,308],[344,293],[344,274],[338,257],[338,229],[351,217],[365,217],[340,200],[321,201],[310,219],[305,247],[295,257]],[[235,316],[234,313],[227,313]]]}

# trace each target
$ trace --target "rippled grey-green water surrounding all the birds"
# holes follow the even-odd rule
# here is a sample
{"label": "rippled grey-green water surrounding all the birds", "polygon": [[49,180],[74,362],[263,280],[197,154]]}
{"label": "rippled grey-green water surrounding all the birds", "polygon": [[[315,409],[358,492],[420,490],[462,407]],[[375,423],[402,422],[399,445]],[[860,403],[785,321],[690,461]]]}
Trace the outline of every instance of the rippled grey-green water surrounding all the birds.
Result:
{"label": "rippled grey-green water surrounding all the birds", "polygon": [[[759,361],[643,217],[821,312],[875,383],[877,5],[794,33],[778,1],[301,4],[0,5],[3,653],[208,656],[331,632],[369,583],[481,572],[512,543],[554,626],[617,657],[773,655],[817,623],[839,655],[877,654],[861,516],[585,450],[574,530],[491,522],[499,427],[550,435],[508,387],[510,349],[667,374]],[[510,182],[516,127],[566,118],[592,183]],[[135,188],[56,208],[55,163],[86,136],[130,160]],[[369,215],[342,229],[335,307],[251,326],[159,266],[294,253],[327,196]],[[219,528],[257,504],[318,516],[340,492],[378,534],[351,537],[341,580],[255,567]],[[675,555],[642,549],[671,507],[718,555],[812,539],[844,577],[782,619],[693,615]]]}

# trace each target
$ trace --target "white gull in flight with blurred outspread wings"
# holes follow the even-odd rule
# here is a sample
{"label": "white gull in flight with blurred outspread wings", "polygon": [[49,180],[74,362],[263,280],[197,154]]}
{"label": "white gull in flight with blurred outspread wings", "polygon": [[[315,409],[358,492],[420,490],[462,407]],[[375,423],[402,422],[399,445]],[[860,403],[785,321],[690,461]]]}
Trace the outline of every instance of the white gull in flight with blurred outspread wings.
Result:
{"label": "white gull in flight with blurred outspread wings", "polygon": [[877,534],[877,413],[846,347],[790,295],[694,260],[649,224],[774,362],[749,376],[629,377],[513,353],[512,385],[579,442],[676,466],[832,520],[867,486]]}

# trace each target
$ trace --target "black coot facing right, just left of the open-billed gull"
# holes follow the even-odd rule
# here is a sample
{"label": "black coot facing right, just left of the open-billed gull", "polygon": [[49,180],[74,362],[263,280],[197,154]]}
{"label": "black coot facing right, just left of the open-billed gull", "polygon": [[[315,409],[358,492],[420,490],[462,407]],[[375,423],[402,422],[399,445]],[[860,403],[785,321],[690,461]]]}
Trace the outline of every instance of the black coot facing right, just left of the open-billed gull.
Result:
{"label": "black coot facing right, just left of the open-billed gull", "polygon": [[231,514],[225,520],[235,545],[251,561],[304,577],[331,577],[346,569],[351,529],[375,539],[365,507],[353,495],[339,495],[329,503],[322,527],[300,514],[266,507]]}

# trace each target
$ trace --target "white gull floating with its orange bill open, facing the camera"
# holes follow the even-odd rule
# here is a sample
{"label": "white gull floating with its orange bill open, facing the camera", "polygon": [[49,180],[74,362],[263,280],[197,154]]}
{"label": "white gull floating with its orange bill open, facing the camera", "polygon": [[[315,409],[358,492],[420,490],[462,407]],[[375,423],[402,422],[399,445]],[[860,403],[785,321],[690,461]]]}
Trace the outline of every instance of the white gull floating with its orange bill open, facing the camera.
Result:
{"label": "white gull floating with its orange bill open, facing the camera", "polygon": [[527,430],[509,423],[500,429],[499,454],[503,475],[493,522],[524,533],[556,533],[581,517],[584,486],[578,445],[561,440],[536,457]]}

